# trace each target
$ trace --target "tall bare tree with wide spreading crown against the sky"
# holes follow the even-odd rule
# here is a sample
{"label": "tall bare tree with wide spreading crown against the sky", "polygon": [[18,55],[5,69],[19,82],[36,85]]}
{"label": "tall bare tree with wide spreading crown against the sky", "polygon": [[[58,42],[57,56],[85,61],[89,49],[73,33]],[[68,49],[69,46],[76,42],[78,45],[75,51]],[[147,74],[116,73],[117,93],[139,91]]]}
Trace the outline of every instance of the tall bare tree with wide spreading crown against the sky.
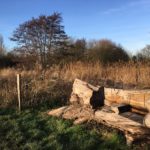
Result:
{"label": "tall bare tree with wide spreading crown against the sky", "polygon": [[18,43],[20,52],[36,55],[45,67],[50,57],[63,47],[67,39],[61,23],[60,13],[32,18],[14,31],[11,40]]}

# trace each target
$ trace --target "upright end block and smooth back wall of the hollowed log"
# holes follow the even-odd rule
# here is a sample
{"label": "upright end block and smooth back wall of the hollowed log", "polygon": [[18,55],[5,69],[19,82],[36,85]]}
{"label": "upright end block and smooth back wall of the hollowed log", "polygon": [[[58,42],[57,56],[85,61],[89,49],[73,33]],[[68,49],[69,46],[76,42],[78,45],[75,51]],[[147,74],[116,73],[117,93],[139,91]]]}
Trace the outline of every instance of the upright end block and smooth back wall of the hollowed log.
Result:
{"label": "upright end block and smooth back wall of the hollowed log", "polygon": [[123,90],[93,86],[75,79],[70,102],[99,107],[105,101],[131,105],[133,108],[148,112],[150,110],[150,90]]}

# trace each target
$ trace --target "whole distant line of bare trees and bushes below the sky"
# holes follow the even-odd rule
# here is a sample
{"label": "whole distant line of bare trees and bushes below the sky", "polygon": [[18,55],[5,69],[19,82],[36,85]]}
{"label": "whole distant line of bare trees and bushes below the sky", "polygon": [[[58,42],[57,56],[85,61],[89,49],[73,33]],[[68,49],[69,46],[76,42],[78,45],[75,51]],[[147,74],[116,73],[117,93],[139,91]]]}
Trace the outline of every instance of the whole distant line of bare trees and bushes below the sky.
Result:
{"label": "whole distant line of bare trees and bushes below the sky", "polygon": [[150,59],[149,45],[131,56],[121,45],[108,39],[86,41],[69,37],[64,31],[61,14],[57,12],[22,23],[10,39],[18,46],[6,53],[0,36],[0,67],[34,68],[39,64],[44,69],[75,61],[110,64]]}

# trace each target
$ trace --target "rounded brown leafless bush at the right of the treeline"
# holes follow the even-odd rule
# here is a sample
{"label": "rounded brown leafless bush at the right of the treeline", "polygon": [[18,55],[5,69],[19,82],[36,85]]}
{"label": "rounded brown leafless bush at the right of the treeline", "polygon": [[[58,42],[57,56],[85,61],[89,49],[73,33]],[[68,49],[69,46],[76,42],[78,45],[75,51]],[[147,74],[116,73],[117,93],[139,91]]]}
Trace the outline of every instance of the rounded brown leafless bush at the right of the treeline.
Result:
{"label": "rounded brown leafless bush at the right of the treeline", "polygon": [[88,59],[92,61],[99,60],[101,63],[113,63],[119,61],[128,61],[127,52],[119,45],[109,40],[96,42],[94,47],[89,50]]}

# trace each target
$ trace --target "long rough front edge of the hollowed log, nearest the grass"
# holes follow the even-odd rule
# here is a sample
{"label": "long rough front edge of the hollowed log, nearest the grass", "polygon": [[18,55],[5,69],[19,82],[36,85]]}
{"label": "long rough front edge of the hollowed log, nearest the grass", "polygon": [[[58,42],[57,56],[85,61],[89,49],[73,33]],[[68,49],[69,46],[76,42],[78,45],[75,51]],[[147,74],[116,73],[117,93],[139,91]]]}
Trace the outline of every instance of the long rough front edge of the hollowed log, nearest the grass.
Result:
{"label": "long rough front edge of the hollowed log, nearest the grass", "polygon": [[99,123],[122,131],[125,134],[128,145],[136,140],[150,140],[150,129],[144,128],[141,123],[129,118],[99,110],[95,112],[94,119]]}

